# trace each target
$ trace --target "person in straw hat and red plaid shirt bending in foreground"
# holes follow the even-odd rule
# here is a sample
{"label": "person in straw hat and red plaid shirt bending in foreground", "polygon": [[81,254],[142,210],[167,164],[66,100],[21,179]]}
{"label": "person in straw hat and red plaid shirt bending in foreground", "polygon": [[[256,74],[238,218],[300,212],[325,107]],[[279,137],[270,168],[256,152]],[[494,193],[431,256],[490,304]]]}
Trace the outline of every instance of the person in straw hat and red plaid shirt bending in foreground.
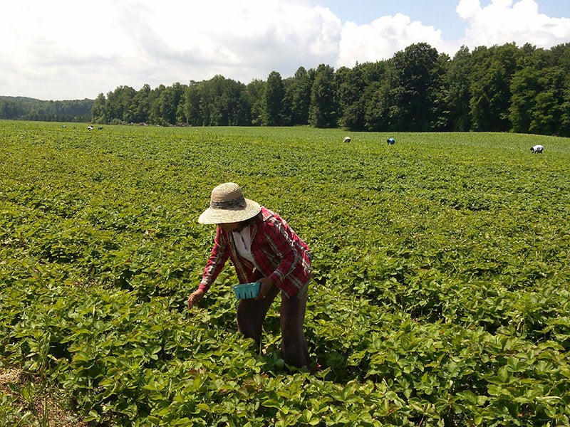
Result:
{"label": "person in straw hat and red plaid shirt bending in foreground", "polygon": [[286,364],[309,367],[303,332],[311,253],[304,241],[277,214],[244,199],[232,182],[212,190],[209,208],[199,223],[217,224],[214,248],[198,289],[188,297],[194,307],[231,259],[240,283],[261,283],[256,298],[239,300],[237,327],[245,337],[261,340],[261,325],[271,302],[281,292],[281,352]]}

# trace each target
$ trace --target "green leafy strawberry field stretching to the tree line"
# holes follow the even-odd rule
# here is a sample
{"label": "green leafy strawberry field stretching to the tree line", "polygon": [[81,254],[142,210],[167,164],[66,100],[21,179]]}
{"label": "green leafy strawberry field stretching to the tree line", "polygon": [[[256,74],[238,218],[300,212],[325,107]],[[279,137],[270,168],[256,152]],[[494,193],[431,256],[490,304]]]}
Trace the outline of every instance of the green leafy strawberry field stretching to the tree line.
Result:
{"label": "green leafy strawberry field stretching to the tree line", "polygon": [[[0,122],[0,419],[569,425],[570,139],[344,136]],[[187,310],[224,181],[311,247],[310,370],[279,299],[237,333],[229,265]]]}

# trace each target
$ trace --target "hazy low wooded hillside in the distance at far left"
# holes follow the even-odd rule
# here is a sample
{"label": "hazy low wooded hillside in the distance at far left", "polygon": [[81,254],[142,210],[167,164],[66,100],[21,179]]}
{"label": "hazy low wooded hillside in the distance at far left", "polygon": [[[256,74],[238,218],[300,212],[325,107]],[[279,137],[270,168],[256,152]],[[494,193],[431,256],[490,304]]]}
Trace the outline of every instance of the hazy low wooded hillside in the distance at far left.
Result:
{"label": "hazy low wooded hillside in the distance at far left", "polygon": [[44,101],[0,95],[0,119],[90,122],[93,100]]}

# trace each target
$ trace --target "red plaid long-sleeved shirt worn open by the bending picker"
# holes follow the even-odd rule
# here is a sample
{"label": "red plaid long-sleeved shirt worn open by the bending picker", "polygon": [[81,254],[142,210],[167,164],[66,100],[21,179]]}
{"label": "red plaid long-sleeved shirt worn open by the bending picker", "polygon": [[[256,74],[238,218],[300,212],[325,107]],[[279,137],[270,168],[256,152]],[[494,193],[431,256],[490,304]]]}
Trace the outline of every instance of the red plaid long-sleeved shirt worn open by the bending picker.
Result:
{"label": "red plaid long-sleeved shirt worn open by the bending picker", "polygon": [[309,246],[284,219],[264,207],[250,221],[249,231],[255,264],[239,255],[232,233],[217,228],[214,248],[204,268],[199,289],[207,291],[230,258],[239,283],[269,277],[288,297],[299,292],[311,275]]}

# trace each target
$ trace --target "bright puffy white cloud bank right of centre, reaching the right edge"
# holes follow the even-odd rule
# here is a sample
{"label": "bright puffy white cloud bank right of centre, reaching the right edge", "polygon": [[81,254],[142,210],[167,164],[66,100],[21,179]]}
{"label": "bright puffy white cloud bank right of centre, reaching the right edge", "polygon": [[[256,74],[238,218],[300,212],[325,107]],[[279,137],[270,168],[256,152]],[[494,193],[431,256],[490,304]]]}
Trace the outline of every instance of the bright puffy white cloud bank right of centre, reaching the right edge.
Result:
{"label": "bright puffy white cloud bank right of centre, reaching the right edge", "polygon": [[408,16],[382,16],[370,24],[347,22],[343,27],[337,65],[391,58],[412,43],[425,42],[440,53],[453,56],[462,46],[493,46],[516,42],[550,48],[570,41],[570,19],[539,14],[534,0],[492,0],[485,7],[480,0],[459,0],[457,15],[467,22],[465,37],[443,40],[442,31]]}

